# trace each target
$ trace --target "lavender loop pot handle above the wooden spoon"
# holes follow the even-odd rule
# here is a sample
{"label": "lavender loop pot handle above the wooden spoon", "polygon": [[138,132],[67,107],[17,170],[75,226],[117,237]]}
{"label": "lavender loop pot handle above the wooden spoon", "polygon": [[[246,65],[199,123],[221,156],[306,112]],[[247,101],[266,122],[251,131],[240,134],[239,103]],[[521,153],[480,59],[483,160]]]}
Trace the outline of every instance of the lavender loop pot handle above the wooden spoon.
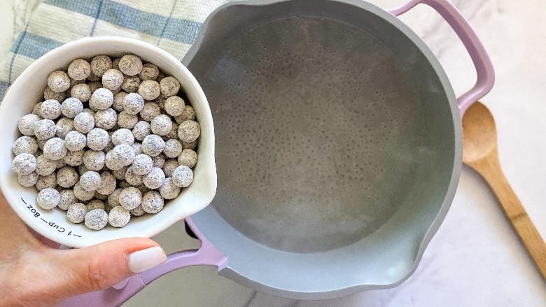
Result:
{"label": "lavender loop pot handle above the wooden spoon", "polygon": [[466,109],[474,102],[481,99],[489,93],[495,82],[495,71],[491,59],[484,48],[484,45],[479,41],[476,32],[470,26],[467,20],[461,15],[461,12],[447,0],[411,0],[407,4],[388,10],[388,13],[398,16],[414,8],[417,4],[426,4],[434,8],[437,13],[442,15],[444,20],[454,29],[459,39],[463,42],[466,50],[470,54],[472,62],[477,73],[476,84],[468,92],[457,98],[458,109],[461,116]]}

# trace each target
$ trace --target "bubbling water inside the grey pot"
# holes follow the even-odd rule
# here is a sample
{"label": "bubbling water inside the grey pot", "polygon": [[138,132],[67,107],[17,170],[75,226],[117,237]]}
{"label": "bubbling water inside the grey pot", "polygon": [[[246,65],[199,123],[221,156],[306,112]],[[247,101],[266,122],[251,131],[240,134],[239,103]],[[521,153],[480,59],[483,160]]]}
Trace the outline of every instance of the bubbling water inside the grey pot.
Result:
{"label": "bubbling water inside the grey pot", "polygon": [[200,80],[216,129],[218,213],[288,252],[349,245],[384,224],[412,189],[424,134],[393,53],[313,17],[225,47]]}

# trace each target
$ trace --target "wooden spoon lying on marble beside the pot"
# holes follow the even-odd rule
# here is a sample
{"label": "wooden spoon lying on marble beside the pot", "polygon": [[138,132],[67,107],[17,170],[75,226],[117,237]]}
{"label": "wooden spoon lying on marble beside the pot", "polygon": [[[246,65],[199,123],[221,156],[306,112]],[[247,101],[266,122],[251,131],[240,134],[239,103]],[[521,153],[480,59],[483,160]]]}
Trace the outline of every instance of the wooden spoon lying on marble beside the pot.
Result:
{"label": "wooden spoon lying on marble beside the pot", "polygon": [[546,244],[500,169],[495,120],[491,111],[479,102],[472,104],[463,116],[463,162],[491,186],[506,217],[546,281]]}

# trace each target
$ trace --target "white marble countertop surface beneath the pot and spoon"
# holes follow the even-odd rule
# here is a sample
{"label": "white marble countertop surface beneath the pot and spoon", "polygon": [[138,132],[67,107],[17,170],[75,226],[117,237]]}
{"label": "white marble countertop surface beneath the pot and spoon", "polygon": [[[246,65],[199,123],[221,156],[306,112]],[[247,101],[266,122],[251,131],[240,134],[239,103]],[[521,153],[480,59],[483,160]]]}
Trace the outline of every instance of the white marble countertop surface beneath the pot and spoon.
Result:
{"label": "white marble countertop surface beneath the pot and spoon", "polygon": [[[405,0],[372,0],[391,8]],[[498,125],[500,163],[546,238],[546,2],[453,0],[475,27],[496,68],[482,102]],[[0,1],[0,51],[10,48],[38,0]],[[459,95],[472,86],[470,58],[430,8],[402,17],[439,57]],[[3,54],[0,55],[0,59]],[[196,247],[172,226],[155,238],[167,252]],[[156,280],[125,306],[546,306],[546,284],[483,180],[463,166],[451,209],[416,272],[393,289],[329,301],[293,301],[253,292],[194,267]]]}

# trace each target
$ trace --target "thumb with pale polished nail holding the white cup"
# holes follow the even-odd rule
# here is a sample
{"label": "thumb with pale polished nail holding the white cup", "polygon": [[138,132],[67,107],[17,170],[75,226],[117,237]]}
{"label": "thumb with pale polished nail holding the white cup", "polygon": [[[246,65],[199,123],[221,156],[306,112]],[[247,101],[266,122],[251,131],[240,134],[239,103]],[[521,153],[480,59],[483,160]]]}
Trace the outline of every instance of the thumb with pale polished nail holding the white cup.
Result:
{"label": "thumb with pale polished nail holding the white cup", "polygon": [[[167,260],[153,240],[127,238],[73,250],[50,250],[54,255],[50,269],[57,271],[50,293],[58,299],[106,289],[135,273]],[[51,289],[52,288],[52,289]]]}

